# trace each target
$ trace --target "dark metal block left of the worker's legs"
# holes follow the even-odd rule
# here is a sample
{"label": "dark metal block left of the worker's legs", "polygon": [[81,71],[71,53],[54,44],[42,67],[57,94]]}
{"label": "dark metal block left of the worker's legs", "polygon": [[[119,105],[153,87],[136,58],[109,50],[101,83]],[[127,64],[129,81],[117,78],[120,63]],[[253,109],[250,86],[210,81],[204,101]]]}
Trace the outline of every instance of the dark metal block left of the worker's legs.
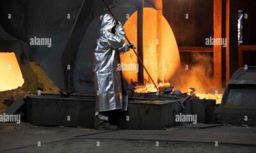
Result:
{"label": "dark metal block left of the worker's legs", "polygon": [[60,95],[27,96],[26,121],[39,126],[71,126],[93,128],[95,98]]}

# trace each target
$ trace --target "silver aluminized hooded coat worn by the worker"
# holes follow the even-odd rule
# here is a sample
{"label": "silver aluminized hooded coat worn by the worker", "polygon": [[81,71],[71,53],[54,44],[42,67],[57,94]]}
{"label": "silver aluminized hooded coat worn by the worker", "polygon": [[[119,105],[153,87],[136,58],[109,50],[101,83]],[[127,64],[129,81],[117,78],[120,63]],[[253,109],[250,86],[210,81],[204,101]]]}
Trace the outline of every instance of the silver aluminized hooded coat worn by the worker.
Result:
{"label": "silver aluminized hooded coat worn by the worker", "polygon": [[118,71],[118,64],[120,64],[118,52],[129,50],[129,46],[124,44],[125,32],[122,24],[116,25],[115,34],[108,31],[114,25],[115,20],[110,15],[100,16],[100,31],[93,68],[96,112],[127,110],[128,96],[122,72]]}

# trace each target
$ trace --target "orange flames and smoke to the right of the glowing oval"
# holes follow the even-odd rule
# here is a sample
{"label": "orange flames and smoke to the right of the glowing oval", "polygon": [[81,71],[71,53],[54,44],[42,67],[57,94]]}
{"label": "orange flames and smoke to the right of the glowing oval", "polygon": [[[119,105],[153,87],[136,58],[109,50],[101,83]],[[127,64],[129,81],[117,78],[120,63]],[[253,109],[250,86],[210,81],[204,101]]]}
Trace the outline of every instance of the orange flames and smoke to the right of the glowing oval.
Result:
{"label": "orange flames and smoke to the right of the glowing oval", "polygon": [[212,78],[212,57],[209,54],[193,54],[191,56],[193,65],[189,65],[188,69],[177,71],[175,77],[172,78],[172,84],[175,89],[187,92],[189,87],[196,89],[196,96],[200,99],[216,99],[216,103],[221,103],[223,96],[222,89],[218,89],[213,85]]}

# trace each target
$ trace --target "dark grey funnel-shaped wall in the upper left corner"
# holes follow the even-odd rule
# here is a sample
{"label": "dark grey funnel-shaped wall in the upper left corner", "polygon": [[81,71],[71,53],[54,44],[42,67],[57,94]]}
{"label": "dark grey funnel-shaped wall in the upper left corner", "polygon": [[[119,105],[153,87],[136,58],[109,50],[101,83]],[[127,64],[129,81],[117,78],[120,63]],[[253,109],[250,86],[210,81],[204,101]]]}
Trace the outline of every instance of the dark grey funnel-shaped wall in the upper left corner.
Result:
{"label": "dark grey funnel-shaped wall in the upper left corner", "polygon": [[[29,59],[36,61],[58,87],[64,87],[61,55],[67,45],[67,38],[83,0],[26,0],[1,1],[0,19],[4,29],[14,38],[51,38],[52,46],[33,46]],[[12,19],[6,19],[12,13]],[[70,13],[71,18],[67,18]]]}

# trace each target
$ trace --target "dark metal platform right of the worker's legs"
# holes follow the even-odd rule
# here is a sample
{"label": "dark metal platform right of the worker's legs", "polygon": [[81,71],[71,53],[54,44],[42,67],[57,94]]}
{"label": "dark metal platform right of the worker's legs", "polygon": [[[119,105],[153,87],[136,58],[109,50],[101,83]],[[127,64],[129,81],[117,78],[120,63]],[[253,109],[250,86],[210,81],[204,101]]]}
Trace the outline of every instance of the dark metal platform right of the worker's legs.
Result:
{"label": "dark metal platform right of the worker's legs", "polygon": [[164,101],[129,101],[127,112],[119,118],[118,127],[122,129],[165,129],[182,125],[175,122],[175,115],[195,114],[197,122],[214,122],[215,100],[193,99],[186,102],[186,109],[182,110],[176,100]]}

